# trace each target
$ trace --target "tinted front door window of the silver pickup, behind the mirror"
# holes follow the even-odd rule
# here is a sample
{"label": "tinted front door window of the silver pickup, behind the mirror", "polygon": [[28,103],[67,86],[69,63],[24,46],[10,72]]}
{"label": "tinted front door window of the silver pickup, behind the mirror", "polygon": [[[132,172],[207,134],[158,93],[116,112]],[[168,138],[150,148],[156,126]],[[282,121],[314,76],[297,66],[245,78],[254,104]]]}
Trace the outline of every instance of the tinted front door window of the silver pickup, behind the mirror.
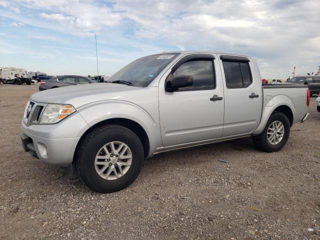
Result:
{"label": "tinted front door window of the silver pickup, behind the mirror", "polygon": [[191,75],[192,86],[180,87],[178,91],[207,90],[215,87],[215,78],[212,59],[190,60],[177,68],[173,77],[179,75]]}

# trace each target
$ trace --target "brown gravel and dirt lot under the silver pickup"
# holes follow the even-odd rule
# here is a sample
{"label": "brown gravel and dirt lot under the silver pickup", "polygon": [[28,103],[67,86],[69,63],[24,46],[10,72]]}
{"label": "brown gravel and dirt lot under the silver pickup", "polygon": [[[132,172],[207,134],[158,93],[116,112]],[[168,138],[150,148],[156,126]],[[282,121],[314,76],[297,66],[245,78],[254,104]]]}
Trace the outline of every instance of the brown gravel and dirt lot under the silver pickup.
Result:
{"label": "brown gravel and dirt lot under the silver pickup", "polygon": [[315,97],[279,152],[250,138],[165,152],[126,189],[99,194],[23,151],[36,91],[0,85],[0,239],[320,239]]}

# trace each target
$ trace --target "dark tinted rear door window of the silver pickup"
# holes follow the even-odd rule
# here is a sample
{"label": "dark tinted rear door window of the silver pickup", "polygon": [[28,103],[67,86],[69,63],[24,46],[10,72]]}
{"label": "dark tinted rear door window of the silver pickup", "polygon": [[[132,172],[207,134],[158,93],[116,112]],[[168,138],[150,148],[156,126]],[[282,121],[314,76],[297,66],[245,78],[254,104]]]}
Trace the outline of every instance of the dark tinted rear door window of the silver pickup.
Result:
{"label": "dark tinted rear door window of the silver pickup", "polygon": [[248,62],[223,60],[222,63],[227,88],[243,88],[252,83],[252,75]]}

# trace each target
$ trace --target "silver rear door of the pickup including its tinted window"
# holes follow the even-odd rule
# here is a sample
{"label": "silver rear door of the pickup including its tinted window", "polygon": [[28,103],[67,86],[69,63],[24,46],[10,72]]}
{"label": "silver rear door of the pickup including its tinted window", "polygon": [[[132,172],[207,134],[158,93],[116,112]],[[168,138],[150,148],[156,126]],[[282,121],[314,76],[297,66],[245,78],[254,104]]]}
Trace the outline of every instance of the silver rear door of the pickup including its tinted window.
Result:
{"label": "silver rear door of the pickup including its tinted window", "polygon": [[262,108],[262,87],[256,65],[247,57],[219,55],[224,71],[224,123],[222,136],[252,132]]}

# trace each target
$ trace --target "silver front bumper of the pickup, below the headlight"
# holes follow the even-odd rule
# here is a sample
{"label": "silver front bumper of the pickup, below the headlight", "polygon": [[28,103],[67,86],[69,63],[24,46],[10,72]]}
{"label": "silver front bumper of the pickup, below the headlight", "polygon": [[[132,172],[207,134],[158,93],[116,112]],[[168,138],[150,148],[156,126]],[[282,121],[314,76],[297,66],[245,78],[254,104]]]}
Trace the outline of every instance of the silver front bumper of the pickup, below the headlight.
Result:
{"label": "silver front bumper of the pickup, below the headlight", "polygon": [[68,167],[73,160],[80,136],[88,129],[78,112],[56,124],[26,125],[21,122],[23,149],[32,156],[54,165]]}

